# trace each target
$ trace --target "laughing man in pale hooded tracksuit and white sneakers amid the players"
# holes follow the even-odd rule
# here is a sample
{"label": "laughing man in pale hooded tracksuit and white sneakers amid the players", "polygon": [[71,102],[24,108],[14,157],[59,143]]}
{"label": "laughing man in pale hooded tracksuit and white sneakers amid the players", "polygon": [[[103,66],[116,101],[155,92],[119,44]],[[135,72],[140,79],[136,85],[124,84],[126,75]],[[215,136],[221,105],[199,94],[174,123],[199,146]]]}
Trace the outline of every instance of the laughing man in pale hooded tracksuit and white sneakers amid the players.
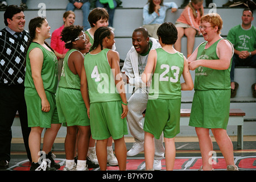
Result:
{"label": "laughing man in pale hooded tracksuit and white sneakers amid the players", "polygon": [[[133,32],[133,47],[127,53],[122,72],[127,77],[127,84],[134,86],[134,93],[128,101],[129,112],[127,122],[130,133],[135,143],[127,152],[127,156],[134,156],[144,150],[144,131],[142,126],[143,111],[146,109],[148,100],[147,87],[141,80],[141,75],[147,64],[148,53],[151,49],[161,47],[158,40],[148,37],[146,28],[139,27]],[[164,157],[163,134],[160,139],[155,139],[154,169],[162,169],[161,160]]]}

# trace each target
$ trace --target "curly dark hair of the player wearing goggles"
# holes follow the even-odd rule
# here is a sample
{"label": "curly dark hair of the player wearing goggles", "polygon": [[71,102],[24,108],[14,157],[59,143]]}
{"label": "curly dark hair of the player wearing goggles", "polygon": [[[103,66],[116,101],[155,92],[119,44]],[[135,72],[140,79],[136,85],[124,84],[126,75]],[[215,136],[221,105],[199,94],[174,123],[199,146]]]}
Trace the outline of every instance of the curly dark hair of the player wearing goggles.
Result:
{"label": "curly dark hair of the player wearing goggles", "polygon": [[60,34],[60,40],[65,43],[71,40],[70,43],[65,44],[65,48],[71,49],[73,47],[72,42],[75,41],[75,39],[79,36],[82,30],[84,29],[81,26],[74,26],[73,24],[71,26],[63,28]]}

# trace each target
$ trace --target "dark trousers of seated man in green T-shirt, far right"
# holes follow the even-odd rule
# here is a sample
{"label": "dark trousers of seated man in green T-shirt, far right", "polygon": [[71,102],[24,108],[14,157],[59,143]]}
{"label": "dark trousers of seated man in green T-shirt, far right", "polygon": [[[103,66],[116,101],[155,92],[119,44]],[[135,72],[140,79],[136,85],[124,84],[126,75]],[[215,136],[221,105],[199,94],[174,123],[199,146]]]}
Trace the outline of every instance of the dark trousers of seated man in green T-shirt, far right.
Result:
{"label": "dark trousers of seated man in green T-shirt, far right", "polygon": [[255,67],[256,68],[256,55],[241,59],[238,55],[233,55],[232,67],[230,70],[230,81],[234,82],[234,68],[236,67]]}

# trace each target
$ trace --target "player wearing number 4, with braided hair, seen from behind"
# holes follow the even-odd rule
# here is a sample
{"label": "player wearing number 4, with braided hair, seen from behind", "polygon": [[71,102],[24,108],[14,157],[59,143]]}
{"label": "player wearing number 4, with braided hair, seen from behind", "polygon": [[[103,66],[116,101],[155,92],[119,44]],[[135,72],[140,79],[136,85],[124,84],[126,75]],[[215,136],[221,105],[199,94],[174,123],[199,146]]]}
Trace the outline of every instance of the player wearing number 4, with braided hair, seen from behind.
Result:
{"label": "player wearing number 4, with braided hair, seen from behind", "polygon": [[94,34],[92,51],[85,55],[81,75],[81,93],[90,118],[92,138],[97,140],[96,155],[106,170],[107,143],[112,136],[120,170],[126,170],[128,112],[125,87],[119,68],[119,54],[111,50],[114,32],[100,27]]}

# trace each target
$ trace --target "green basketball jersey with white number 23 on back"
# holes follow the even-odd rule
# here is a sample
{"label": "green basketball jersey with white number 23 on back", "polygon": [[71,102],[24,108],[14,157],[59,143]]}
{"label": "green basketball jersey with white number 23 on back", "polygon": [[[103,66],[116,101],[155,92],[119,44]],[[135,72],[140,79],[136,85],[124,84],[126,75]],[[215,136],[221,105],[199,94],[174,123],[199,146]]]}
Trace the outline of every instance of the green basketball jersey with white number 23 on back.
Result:
{"label": "green basketball jersey with white number 23 on back", "polygon": [[181,98],[180,76],[183,73],[183,53],[168,53],[163,48],[157,48],[155,72],[148,93],[149,99]]}

